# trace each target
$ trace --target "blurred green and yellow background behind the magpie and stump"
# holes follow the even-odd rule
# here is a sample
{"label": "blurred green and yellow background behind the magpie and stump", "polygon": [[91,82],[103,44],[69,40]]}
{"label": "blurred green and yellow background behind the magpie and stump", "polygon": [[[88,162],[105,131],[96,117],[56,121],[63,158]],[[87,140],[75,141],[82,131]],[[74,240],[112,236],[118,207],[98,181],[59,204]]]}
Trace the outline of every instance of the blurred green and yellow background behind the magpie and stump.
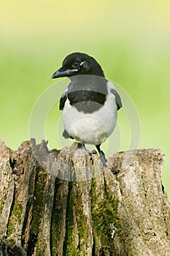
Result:
{"label": "blurred green and yellow background behind the magpie and stump", "polygon": [[[162,180],[170,196],[169,32],[167,0],[1,1],[0,138],[13,149],[28,140],[31,110],[55,82],[50,76],[67,54],[88,53],[134,101],[139,148],[161,148],[166,155]],[[58,102],[47,121],[50,148],[61,148],[53,139],[56,118],[61,118]],[[125,141],[120,150],[127,150],[123,111],[118,125]]]}

